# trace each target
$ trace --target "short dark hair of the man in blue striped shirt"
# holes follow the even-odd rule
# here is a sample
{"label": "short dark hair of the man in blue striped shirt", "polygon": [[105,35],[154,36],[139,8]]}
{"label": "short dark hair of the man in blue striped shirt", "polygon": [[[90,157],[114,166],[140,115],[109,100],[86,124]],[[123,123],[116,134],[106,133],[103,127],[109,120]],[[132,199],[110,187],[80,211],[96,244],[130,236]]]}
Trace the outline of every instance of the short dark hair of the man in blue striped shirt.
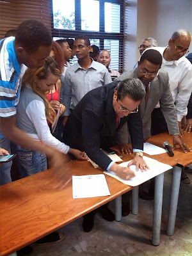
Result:
{"label": "short dark hair of the man in blue striped shirt", "polygon": [[38,20],[25,20],[18,28],[15,44],[28,52],[35,52],[40,46],[51,46],[52,36],[49,29]]}

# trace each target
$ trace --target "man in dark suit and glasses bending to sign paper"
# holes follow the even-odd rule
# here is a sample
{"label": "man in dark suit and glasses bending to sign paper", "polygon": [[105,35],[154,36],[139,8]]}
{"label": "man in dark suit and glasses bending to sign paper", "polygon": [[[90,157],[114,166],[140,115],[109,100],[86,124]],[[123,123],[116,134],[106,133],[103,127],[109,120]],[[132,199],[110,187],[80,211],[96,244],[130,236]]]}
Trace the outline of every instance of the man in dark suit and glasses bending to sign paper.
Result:
{"label": "man in dark suit and glasses bending to sign paper", "polygon": [[[117,85],[118,84],[118,85]],[[129,168],[135,164],[137,170],[147,170],[143,160],[143,130],[138,106],[145,96],[145,87],[140,79],[125,79],[120,83],[100,86],[88,92],[77,104],[66,124],[65,138],[70,147],[84,150],[88,157],[103,170],[111,170],[122,179],[131,179],[134,172]],[[118,166],[100,148],[116,144],[116,132],[125,123],[129,124],[134,159],[127,167]],[[84,216],[83,230],[93,228],[96,212]],[[115,219],[112,212],[104,207],[101,212],[105,220]]]}

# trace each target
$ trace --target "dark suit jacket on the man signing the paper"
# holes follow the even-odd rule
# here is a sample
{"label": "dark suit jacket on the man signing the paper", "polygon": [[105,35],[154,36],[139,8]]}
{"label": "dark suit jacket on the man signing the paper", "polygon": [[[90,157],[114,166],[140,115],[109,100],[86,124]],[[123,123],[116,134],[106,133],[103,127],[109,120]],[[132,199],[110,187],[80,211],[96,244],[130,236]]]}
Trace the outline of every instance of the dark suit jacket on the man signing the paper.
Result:
{"label": "dark suit jacket on the man signing the paper", "polygon": [[132,147],[143,149],[143,132],[140,113],[121,118],[116,130],[116,113],[113,109],[113,93],[116,83],[96,88],[77,104],[65,125],[66,143],[72,148],[84,150],[88,157],[106,170],[111,159],[100,150],[115,143],[116,131],[129,123]]}

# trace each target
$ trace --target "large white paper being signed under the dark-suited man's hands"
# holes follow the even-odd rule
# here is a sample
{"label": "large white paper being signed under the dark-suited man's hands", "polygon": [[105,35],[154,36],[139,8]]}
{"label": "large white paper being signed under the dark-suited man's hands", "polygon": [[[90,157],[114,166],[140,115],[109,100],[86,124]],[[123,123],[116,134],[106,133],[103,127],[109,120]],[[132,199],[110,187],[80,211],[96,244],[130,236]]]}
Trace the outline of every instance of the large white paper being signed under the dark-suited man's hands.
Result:
{"label": "large white paper being signed under the dark-suited man's hands", "polygon": [[[153,177],[156,177],[157,175],[159,175],[160,173],[166,172],[167,170],[172,169],[172,166],[168,165],[168,164],[164,164],[161,163],[155,159],[151,159],[149,157],[143,156],[143,159],[145,160],[145,162],[147,163],[149,170],[141,172],[141,170],[139,170],[138,172],[136,171],[136,166],[135,165],[131,165],[129,168],[131,170],[134,170],[135,173],[135,177],[133,177],[130,180],[124,180],[121,179],[120,177],[118,177],[118,175],[116,175],[116,173],[111,172],[111,171],[105,171],[104,173],[108,174],[109,176],[119,180],[120,182],[123,182],[126,185],[129,186],[138,186],[140,184],[142,184],[143,182],[152,179]],[[120,166],[127,166],[129,164],[129,162],[124,162],[119,164]]]}

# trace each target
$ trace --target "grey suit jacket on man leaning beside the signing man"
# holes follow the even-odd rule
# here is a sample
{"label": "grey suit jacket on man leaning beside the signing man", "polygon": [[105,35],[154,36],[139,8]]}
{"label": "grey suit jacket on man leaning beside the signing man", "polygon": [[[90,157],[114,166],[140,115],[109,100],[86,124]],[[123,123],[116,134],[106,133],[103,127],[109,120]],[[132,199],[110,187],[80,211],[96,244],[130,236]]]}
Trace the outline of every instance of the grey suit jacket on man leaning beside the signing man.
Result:
{"label": "grey suit jacket on man leaning beside the signing man", "polygon": [[[127,78],[138,78],[138,68],[135,68],[129,72],[125,72],[122,74],[122,76],[119,76],[117,80],[122,81]],[[143,98],[140,104],[144,140],[147,140],[147,138],[150,137],[151,113],[158,102],[160,103],[160,108],[163,112],[166,124],[168,125],[169,133],[179,133],[177,112],[172,99],[172,93],[170,92],[169,77],[168,73],[164,70],[159,70],[158,76],[156,76],[150,83],[150,95],[146,108],[145,98]],[[124,134],[122,134],[123,130],[125,131],[125,127],[119,132],[118,138],[120,143],[122,143],[122,137],[124,138]]]}

